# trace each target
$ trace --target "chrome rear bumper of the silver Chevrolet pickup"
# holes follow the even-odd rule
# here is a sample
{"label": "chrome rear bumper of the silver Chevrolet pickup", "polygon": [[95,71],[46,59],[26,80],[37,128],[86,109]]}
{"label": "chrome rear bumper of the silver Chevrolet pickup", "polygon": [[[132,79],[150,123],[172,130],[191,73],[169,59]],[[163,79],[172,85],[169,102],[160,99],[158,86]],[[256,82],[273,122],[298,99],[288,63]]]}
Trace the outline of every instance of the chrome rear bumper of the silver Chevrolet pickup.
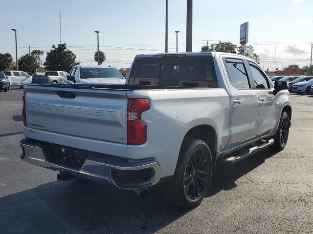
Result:
{"label": "chrome rear bumper of the silver Chevrolet pickup", "polygon": [[[86,160],[80,170],[76,170],[64,165],[55,164],[47,160],[47,152],[45,143],[33,142],[30,140],[23,139],[20,141],[20,146],[22,147],[21,158],[25,162],[34,164],[40,167],[44,167],[54,171],[60,171],[69,173],[73,176],[83,177],[87,179],[92,179],[101,182],[108,182],[113,186],[123,188],[123,189],[134,189],[134,188],[144,188],[151,185],[155,185],[160,180],[160,169],[154,160],[146,161],[126,161],[118,160],[106,155],[97,156],[91,154],[86,157]],[[112,169],[115,174],[119,172],[143,172],[144,170],[151,170],[150,180],[136,180],[136,183],[130,184],[130,186],[125,186],[125,184],[119,183],[112,176]],[[125,174],[123,174],[125,175]],[[140,174],[139,174],[140,175]],[[119,176],[120,177],[120,176]],[[149,178],[150,178],[149,177]]]}

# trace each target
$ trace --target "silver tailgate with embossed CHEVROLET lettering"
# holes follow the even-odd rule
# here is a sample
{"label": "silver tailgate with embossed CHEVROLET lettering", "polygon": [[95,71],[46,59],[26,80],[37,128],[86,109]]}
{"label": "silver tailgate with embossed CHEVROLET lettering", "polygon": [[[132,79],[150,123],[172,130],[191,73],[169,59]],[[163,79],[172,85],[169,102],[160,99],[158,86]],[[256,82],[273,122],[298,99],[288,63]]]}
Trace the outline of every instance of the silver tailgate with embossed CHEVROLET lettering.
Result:
{"label": "silver tailgate with embossed CHEVROLET lettering", "polygon": [[26,85],[25,137],[126,157],[126,90]]}

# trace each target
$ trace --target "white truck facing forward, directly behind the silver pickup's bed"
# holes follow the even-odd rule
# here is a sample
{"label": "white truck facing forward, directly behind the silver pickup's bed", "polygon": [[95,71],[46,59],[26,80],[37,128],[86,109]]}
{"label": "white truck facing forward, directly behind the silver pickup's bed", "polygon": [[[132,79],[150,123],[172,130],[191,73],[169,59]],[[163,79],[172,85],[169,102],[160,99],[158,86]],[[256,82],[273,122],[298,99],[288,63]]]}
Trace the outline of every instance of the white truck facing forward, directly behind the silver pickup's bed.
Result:
{"label": "white truck facing forward, directly behind the silver pickup's bed", "polygon": [[73,66],[64,83],[67,84],[125,84],[126,79],[111,66]]}

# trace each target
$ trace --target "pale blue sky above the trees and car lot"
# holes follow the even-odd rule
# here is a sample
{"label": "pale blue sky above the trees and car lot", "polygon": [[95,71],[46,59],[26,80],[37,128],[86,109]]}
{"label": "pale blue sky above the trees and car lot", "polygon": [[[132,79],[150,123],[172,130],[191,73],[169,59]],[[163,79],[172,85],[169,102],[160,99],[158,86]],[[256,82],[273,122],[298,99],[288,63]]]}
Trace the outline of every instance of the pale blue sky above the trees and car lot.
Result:
{"label": "pale blue sky above the trees and car lot", "polygon": [[[186,0],[169,1],[169,51],[185,51]],[[15,60],[14,32],[18,30],[18,57],[31,50],[48,51],[62,41],[77,61],[95,64],[96,34],[107,62],[129,67],[136,54],[164,51],[165,0],[1,0],[0,53]],[[5,10],[3,10],[5,9]],[[261,55],[261,66],[282,68],[310,64],[313,41],[313,0],[193,0],[193,51],[209,43],[239,43],[240,24],[249,21],[249,43]],[[43,57],[44,59],[44,57]]]}

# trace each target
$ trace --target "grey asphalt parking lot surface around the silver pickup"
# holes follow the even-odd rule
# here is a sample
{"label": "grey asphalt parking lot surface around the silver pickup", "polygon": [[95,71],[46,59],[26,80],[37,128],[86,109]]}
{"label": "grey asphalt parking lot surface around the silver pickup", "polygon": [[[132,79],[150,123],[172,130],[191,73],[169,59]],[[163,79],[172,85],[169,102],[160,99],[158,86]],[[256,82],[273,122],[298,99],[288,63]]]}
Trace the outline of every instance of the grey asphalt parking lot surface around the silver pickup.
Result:
{"label": "grey asphalt parking lot surface around the silver pickup", "polygon": [[0,91],[0,233],[313,233],[313,96],[291,94],[284,151],[218,168],[201,205],[183,210],[158,187],[140,200],[23,162],[21,94]]}

